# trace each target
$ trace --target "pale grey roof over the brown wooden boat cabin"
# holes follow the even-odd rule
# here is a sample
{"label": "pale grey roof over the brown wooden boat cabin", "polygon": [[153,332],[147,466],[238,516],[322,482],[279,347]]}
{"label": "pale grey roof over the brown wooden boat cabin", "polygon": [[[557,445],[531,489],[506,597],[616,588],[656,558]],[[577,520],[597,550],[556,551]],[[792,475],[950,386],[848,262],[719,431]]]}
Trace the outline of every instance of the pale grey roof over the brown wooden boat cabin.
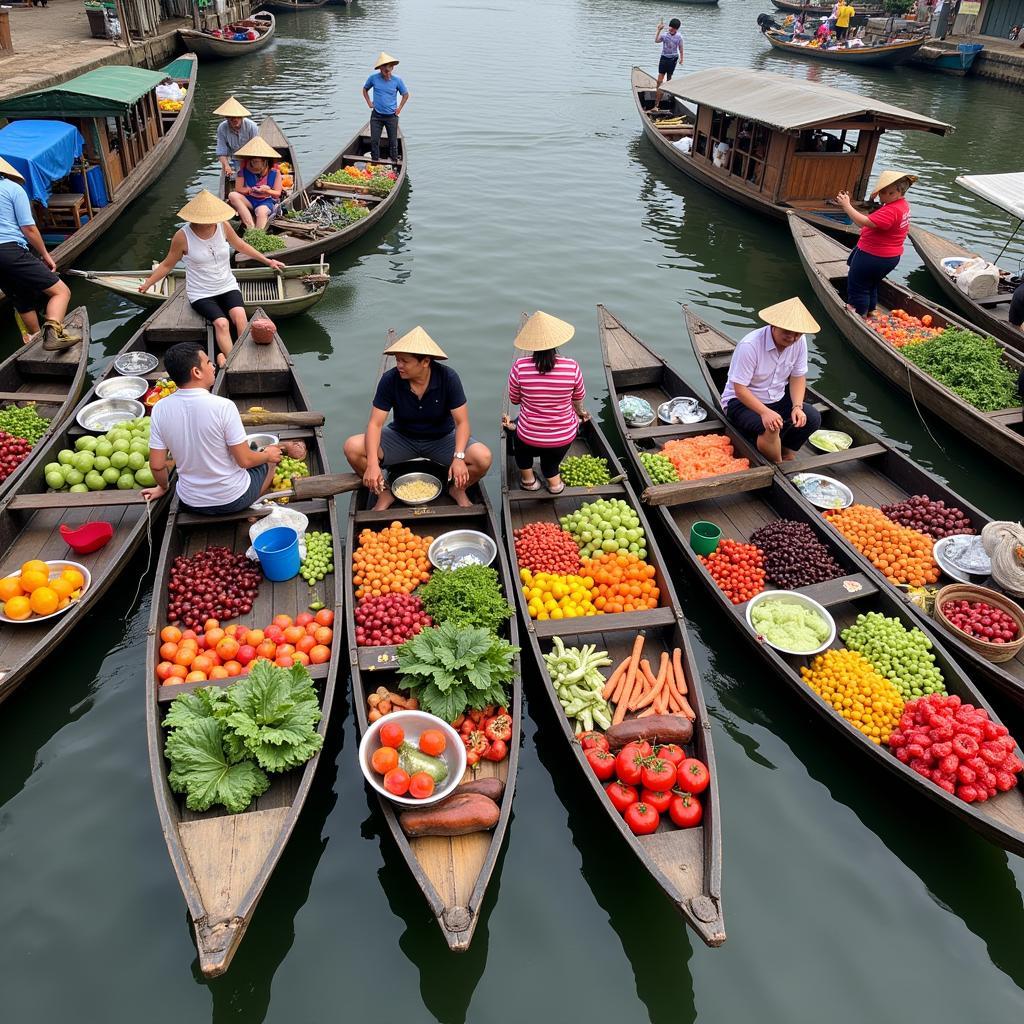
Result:
{"label": "pale grey roof over the brown wooden boat cabin", "polygon": [[952,128],[871,96],[740,68],[694,72],[664,83],[662,91],[782,131],[826,127],[830,122],[853,117],[870,117],[887,128],[921,128],[938,135]]}

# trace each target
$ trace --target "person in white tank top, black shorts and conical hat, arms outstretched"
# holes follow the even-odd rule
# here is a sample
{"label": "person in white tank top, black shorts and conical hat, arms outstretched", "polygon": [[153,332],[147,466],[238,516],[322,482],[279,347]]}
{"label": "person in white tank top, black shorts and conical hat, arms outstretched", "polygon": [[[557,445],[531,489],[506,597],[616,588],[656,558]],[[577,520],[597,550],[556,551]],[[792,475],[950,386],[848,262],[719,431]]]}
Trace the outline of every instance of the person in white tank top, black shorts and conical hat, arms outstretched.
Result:
{"label": "person in white tank top, black shorts and conical hat, arms outstretched", "polygon": [[227,223],[234,211],[205,188],[178,210],[178,216],[185,221],[184,227],[174,232],[167,255],[138,290],[148,291],[179,261],[183,263],[185,295],[193,309],[212,322],[217,338],[217,366],[222,367],[231,350],[231,326],[238,338],[249,323],[239,283],[231,273],[231,250],[274,270],[283,270],[285,264],[240,239]]}

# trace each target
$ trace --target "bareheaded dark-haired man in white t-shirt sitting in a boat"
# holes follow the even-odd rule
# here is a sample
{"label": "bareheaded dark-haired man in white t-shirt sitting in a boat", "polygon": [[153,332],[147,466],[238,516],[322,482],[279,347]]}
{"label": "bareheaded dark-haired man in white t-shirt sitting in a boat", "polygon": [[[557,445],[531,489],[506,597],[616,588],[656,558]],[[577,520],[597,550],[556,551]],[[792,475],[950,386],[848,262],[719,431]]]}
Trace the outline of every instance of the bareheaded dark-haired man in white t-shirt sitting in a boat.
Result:
{"label": "bareheaded dark-haired man in white t-shirt sitting in a boat", "polygon": [[164,367],[178,389],[153,407],[150,468],[157,485],[142,490],[146,501],[167,493],[168,452],[174,454],[179,501],[203,515],[241,512],[270,489],[283,455],[305,459],[303,441],[260,452],[249,446],[234,402],[210,393],[216,370],[202,345],[171,345]]}

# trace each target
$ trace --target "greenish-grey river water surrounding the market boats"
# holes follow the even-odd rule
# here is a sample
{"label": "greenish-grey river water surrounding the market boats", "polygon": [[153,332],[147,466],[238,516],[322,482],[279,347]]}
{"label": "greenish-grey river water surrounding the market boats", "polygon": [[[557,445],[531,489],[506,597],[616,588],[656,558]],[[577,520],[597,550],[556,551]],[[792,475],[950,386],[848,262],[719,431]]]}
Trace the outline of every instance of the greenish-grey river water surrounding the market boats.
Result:
{"label": "greenish-grey river water surrounding the market boats", "polygon": [[[761,39],[761,9],[757,0],[682,8],[686,68],[763,69],[953,123],[945,139],[887,135],[879,166],[921,175],[910,194],[919,223],[994,254],[1007,218],[953,179],[1019,168],[1020,92],[915,69],[791,62]],[[600,411],[595,303],[695,379],[680,303],[740,332],[756,310],[797,294],[825,325],[811,371],[821,389],[990,513],[1018,516],[1019,496],[997,471],[941,424],[923,425],[844,350],[785,226],[689,182],[643,140],[630,68],[656,63],[654,26],[675,13],[646,0],[374,0],[281,15],[269,49],[203,66],[179,156],[81,265],[162,256],[174,211],[216,181],[211,112],[230,92],[273,115],[308,177],[365,120],[359,87],[384,48],[401,57],[413,93],[402,117],[409,190],[383,225],[332,258],[335,280],[315,311],[285,327],[336,449],[365,423],[389,327],[427,328],[467,385],[474,432],[495,441],[520,310],[577,325],[571,354]],[[1011,252],[1024,257],[1021,246]],[[897,276],[935,296],[909,246]],[[73,287],[89,307],[95,369],[142,314]],[[483,919],[471,951],[450,954],[382,836],[345,698],[233,966],[203,981],[146,766],[148,584],[128,603],[145,568],[143,553],[0,716],[5,1020],[1021,1019],[1024,862],[836,744],[682,580],[714,716],[724,947],[695,941],[608,834],[538,695]],[[527,696],[536,686],[527,678]],[[1021,716],[1010,723],[1024,730]]]}

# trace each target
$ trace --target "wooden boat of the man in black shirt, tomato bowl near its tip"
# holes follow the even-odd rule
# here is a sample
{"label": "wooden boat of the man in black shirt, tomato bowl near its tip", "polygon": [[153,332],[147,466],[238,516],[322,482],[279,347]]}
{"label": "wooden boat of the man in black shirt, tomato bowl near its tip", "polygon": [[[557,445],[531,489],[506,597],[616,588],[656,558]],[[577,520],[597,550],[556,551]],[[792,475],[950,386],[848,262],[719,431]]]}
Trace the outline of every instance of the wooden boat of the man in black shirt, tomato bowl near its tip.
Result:
{"label": "wooden boat of the man in black shirt, tomato bowl near its tip", "polygon": [[[389,343],[395,340],[392,332]],[[389,361],[389,357],[382,360],[380,374],[388,368]],[[368,508],[369,492],[360,487],[349,504],[348,529],[345,535],[345,594],[348,597],[345,602],[345,626],[351,651],[352,700],[360,734],[370,724],[367,717],[369,710],[367,697],[378,686],[397,689],[399,684],[394,681],[398,660],[395,647],[356,645],[352,554],[358,544],[358,535],[368,527],[382,529],[394,520],[400,520],[414,534],[421,537],[437,537],[453,529],[475,529],[486,534],[498,547],[498,557],[494,567],[498,570],[506,598],[512,603],[514,600],[512,592],[518,592],[519,588],[509,572],[509,563],[505,557],[498,521],[489,499],[480,486],[472,488],[470,496],[474,502],[470,508],[459,507],[442,493],[440,498],[429,505],[420,505],[416,508],[395,505],[386,511],[377,512],[372,507]],[[514,616],[509,621],[506,636],[518,647],[519,631]],[[388,830],[404,858],[413,879],[426,897],[431,913],[437,919],[449,948],[457,952],[466,951],[473,940],[487,884],[511,821],[523,714],[522,676],[518,655],[508,707],[512,715],[512,738],[508,743],[508,757],[499,762],[480,761],[476,765],[475,772],[467,769],[463,779],[468,781],[471,778],[497,777],[505,783],[501,816],[493,831],[477,831],[453,838],[426,836],[410,839],[398,824],[395,805],[383,797],[377,797]]]}

